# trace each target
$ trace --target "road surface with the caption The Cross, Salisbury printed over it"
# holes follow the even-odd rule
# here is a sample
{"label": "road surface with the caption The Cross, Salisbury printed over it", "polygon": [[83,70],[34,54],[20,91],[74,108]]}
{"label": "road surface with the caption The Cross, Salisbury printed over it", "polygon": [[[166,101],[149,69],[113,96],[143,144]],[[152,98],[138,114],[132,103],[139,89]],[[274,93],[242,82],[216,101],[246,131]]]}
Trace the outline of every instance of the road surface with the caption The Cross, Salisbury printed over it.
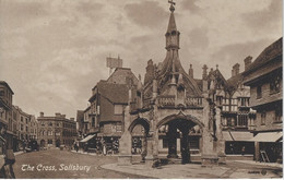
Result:
{"label": "road surface with the caption The Cross, Salisbury printed over it", "polygon": [[67,151],[48,149],[16,156],[16,178],[118,178],[137,179],[143,176],[102,169],[104,164],[117,163],[117,157],[90,156]]}

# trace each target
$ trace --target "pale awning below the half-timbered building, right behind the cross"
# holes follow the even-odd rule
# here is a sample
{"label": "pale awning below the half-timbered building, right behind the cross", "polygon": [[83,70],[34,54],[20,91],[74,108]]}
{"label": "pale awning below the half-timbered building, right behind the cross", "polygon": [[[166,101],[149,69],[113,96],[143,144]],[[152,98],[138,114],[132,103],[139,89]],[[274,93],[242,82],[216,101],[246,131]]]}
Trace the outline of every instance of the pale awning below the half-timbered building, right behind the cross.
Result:
{"label": "pale awning below the half-timbered building, right behind the cross", "polygon": [[223,131],[223,139],[225,141],[248,141],[253,137],[253,134],[250,132],[241,131]]}

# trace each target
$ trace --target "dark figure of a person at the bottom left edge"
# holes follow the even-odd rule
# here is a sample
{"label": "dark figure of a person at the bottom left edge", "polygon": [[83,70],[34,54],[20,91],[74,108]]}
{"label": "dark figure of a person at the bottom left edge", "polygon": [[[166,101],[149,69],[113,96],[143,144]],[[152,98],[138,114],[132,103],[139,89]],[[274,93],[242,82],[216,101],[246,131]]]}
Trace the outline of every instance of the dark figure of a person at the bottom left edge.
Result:
{"label": "dark figure of a person at the bottom left edge", "polygon": [[0,178],[15,179],[13,164],[15,163],[15,156],[11,144],[7,140],[7,129],[0,127]]}

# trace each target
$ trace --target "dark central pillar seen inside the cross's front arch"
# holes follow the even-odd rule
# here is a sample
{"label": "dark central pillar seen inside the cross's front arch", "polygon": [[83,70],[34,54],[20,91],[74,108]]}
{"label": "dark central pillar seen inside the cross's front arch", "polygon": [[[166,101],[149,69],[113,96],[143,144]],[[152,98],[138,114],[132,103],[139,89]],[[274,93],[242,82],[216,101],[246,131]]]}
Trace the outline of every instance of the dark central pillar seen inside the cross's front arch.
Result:
{"label": "dark central pillar seen inside the cross's front arch", "polygon": [[168,124],[168,155],[167,158],[178,158],[177,155],[177,127],[174,123]]}

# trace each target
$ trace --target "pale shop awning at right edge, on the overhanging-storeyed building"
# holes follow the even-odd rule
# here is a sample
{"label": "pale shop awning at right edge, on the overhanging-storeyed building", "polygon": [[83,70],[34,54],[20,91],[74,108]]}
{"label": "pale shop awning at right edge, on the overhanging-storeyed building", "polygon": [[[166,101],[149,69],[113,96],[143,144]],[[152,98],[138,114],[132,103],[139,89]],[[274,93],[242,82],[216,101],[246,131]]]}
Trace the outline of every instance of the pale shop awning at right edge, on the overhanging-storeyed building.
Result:
{"label": "pale shop awning at right edge, on the overhanging-storeyed building", "polygon": [[256,136],[250,139],[249,141],[253,142],[277,142],[282,139],[282,132],[261,132],[258,133]]}

